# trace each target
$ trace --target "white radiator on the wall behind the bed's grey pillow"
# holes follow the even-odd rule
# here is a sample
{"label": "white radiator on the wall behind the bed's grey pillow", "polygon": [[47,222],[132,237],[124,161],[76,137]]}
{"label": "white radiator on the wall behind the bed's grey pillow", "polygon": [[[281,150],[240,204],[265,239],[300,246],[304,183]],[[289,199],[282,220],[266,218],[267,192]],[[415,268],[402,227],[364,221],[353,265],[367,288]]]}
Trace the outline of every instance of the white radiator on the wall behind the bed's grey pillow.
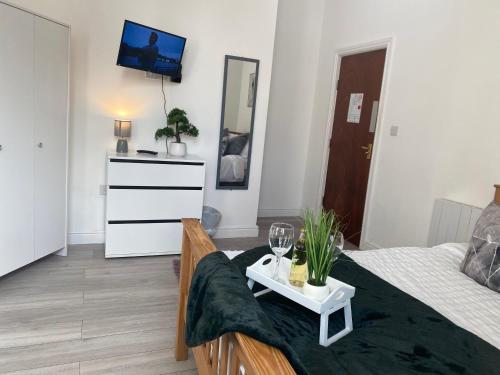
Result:
{"label": "white radiator on the wall behind the bed's grey pillow", "polygon": [[429,247],[446,242],[469,242],[482,209],[468,204],[437,199],[432,211]]}

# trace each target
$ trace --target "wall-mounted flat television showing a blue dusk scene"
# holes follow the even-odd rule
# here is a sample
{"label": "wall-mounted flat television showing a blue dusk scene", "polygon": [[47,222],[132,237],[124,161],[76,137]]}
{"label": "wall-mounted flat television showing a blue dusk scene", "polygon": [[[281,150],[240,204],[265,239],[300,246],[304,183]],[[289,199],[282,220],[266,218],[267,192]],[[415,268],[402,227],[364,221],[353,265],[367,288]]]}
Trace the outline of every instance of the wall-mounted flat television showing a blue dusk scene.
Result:
{"label": "wall-mounted flat television showing a blue dusk scene", "polygon": [[125,20],[116,64],[177,76],[185,44],[186,38]]}

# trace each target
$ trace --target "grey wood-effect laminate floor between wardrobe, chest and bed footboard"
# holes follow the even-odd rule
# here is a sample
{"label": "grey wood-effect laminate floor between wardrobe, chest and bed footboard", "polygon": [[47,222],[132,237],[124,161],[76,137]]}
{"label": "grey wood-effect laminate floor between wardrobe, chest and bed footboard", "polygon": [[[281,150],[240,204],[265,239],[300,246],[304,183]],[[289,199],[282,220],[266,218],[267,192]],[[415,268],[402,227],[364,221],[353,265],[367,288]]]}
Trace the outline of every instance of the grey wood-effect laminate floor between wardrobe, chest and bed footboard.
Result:
{"label": "grey wood-effect laminate floor between wardrobe, chest and bed footboard", "polygon": [[79,245],[0,278],[0,374],[197,374],[174,358],[172,260]]}

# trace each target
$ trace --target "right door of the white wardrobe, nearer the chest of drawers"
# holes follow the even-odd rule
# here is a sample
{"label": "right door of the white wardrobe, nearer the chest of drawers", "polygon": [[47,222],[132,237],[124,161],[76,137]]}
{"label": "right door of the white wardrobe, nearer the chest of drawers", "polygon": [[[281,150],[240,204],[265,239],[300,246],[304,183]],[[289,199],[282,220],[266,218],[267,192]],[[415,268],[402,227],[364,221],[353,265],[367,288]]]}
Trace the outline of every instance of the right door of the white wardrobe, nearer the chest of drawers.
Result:
{"label": "right door of the white wardrobe, nearer the chest of drawers", "polygon": [[68,28],[35,16],[35,258],[66,246]]}

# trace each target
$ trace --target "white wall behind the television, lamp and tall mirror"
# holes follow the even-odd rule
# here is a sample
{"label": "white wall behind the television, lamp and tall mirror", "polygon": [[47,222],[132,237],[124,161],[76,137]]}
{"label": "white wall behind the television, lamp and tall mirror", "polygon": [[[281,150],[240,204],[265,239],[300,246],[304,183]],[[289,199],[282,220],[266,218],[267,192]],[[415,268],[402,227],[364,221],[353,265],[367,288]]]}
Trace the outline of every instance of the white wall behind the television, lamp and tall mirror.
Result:
{"label": "white wall behind the television, lamp and tall mirror", "polygon": [[[72,27],[69,236],[102,242],[106,149],[115,147],[113,119],[133,120],[132,148],[165,150],[153,138],[163,126],[160,81],[116,66],[124,19],[187,37],[183,81],[168,83],[168,109],[187,111],[200,129],[188,140],[207,160],[205,203],[222,211],[220,234],[256,235],[277,0],[14,0]],[[215,190],[224,55],[260,59],[248,190]],[[236,209],[235,209],[236,208]]]}

